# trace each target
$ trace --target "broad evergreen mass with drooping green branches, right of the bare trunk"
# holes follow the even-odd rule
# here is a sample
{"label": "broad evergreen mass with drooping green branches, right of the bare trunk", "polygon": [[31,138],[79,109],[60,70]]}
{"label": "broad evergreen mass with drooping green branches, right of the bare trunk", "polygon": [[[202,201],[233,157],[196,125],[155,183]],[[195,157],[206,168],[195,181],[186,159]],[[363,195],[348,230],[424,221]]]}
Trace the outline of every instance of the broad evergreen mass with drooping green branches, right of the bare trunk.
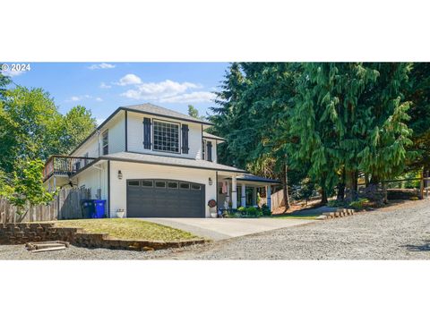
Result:
{"label": "broad evergreen mass with drooping green branches, right of the bare trunk", "polygon": [[360,171],[375,182],[401,171],[410,143],[409,104],[401,96],[409,64],[305,64],[291,134],[296,165],[328,193],[336,184],[357,198]]}

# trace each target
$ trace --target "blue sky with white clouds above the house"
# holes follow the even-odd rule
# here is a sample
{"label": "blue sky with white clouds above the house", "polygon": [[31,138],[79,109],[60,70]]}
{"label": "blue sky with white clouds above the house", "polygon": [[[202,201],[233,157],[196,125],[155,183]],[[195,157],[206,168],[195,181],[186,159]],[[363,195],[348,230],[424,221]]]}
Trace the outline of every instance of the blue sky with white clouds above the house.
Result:
{"label": "blue sky with white clouds above the house", "polygon": [[[12,63],[8,63],[11,66]],[[118,106],[153,103],[187,114],[206,114],[228,63],[30,63],[28,72],[5,74],[26,87],[46,89],[64,114],[90,108],[98,123]]]}

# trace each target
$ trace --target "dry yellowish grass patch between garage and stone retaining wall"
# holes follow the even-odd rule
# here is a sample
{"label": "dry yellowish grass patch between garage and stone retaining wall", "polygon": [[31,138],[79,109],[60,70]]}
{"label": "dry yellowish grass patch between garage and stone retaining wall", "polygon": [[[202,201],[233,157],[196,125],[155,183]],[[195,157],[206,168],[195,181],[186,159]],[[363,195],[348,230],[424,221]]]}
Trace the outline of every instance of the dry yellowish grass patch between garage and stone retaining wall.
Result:
{"label": "dry yellowish grass patch between garage and stone retaining wall", "polygon": [[177,242],[200,238],[180,229],[139,219],[77,219],[60,220],[56,227],[82,228],[87,233],[108,233],[112,238],[135,241]]}

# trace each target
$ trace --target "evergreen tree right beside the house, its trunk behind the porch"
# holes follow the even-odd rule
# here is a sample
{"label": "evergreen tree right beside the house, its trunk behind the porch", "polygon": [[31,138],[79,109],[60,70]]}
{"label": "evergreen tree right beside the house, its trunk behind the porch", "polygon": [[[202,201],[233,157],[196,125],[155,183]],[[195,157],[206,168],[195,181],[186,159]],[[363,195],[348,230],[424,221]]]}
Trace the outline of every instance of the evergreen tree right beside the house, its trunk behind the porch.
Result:
{"label": "evergreen tree right beside the house, its trunk behind the porch", "polygon": [[[291,64],[232,64],[219,97],[220,118],[232,163],[254,174],[280,178],[288,200],[286,129],[294,97]],[[237,81],[239,80],[239,81]],[[235,95],[232,95],[234,93]],[[219,109],[213,109],[219,112]],[[221,125],[222,124],[222,125]]]}

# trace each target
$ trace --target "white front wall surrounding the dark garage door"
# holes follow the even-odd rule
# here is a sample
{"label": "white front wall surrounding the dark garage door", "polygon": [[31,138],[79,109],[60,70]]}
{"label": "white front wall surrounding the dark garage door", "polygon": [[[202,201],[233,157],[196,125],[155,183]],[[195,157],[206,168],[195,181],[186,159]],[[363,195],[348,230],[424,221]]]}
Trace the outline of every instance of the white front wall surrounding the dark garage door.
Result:
{"label": "white front wall surrounding the dark garage door", "polygon": [[[121,170],[123,179],[118,179]],[[209,178],[212,185],[209,185]],[[168,179],[196,182],[205,185],[205,216],[209,217],[207,203],[216,199],[216,174],[212,170],[193,169],[178,166],[147,165],[128,162],[110,161],[110,216],[116,216],[116,209],[125,209],[127,214],[126,181],[128,179]],[[144,205],[142,205],[144,207]],[[178,205],[180,207],[180,205]]]}

